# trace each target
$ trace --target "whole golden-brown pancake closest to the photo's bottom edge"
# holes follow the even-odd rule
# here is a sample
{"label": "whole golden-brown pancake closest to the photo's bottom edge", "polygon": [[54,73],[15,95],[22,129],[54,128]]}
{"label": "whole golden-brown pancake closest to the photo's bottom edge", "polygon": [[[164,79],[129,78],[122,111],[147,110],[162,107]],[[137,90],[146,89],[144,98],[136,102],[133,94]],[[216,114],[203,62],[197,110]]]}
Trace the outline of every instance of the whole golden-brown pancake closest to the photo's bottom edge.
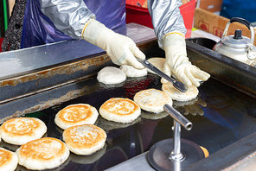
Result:
{"label": "whole golden-brown pancake closest to the photo's bottom edge", "polygon": [[52,137],[44,137],[23,144],[16,150],[19,164],[25,168],[42,170],[60,166],[69,156],[64,142]]}

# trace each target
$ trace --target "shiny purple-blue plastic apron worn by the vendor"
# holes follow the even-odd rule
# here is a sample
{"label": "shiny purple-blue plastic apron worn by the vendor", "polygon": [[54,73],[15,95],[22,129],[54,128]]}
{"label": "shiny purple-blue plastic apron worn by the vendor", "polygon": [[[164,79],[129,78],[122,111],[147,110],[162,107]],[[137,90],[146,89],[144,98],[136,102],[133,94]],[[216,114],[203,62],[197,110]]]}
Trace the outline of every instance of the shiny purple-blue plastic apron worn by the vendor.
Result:
{"label": "shiny purple-blue plastic apron worn by the vendor", "polygon": [[[96,19],[104,23],[107,28],[118,28],[125,24],[125,0],[116,3],[111,0],[85,0],[85,3],[96,15]],[[21,48],[71,39],[70,36],[55,28],[54,23],[42,13],[38,0],[27,1]]]}

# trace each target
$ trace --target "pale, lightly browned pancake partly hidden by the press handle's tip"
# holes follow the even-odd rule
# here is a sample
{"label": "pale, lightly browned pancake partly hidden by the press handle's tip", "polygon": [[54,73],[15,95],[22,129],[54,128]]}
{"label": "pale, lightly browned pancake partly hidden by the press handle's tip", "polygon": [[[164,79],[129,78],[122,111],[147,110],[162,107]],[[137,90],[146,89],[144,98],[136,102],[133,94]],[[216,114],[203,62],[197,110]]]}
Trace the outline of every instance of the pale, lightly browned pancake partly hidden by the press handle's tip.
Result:
{"label": "pale, lightly browned pancake partly hidden by the press handle's tip", "polygon": [[154,88],[137,92],[133,99],[141,109],[154,113],[162,112],[164,104],[172,105],[172,99],[166,92]]}

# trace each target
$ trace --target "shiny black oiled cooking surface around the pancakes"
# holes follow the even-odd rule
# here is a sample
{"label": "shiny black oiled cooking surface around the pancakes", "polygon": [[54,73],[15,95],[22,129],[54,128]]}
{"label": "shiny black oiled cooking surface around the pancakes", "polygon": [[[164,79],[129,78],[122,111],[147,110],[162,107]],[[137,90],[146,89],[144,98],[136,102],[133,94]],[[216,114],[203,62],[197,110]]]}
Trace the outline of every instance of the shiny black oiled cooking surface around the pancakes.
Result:
{"label": "shiny black oiled cooking surface around the pancakes", "polygon": [[[162,86],[160,77],[152,73],[138,79],[127,78],[123,84],[115,86],[100,84],[96,76],[73,83],[73,85],[76,87],[87,86],[91,89],[90,93],[26,115],[26,117],[38,117],[46,123],[48,127],[46,136],[62,140],[63,130],[55,125],[54,116],[69,104],[91,104],[99,110],[100,105],[109,98],[132,99],[136,92],[149,88],[161,90]],[[37,100],[43,99],[39,97]],[[182,114],[186,113],[185,117],[193,123],[192,130],[182,129],[182,138],[205,147],[210,155],[256,130],[255,99],[212,78],[199,87],[198,98],[194,101],[188,103],[174,102],[174,106]],[[188,111],[193,110],[202,110],[203,115],[188,114]],[[109,122],[99,116],[96,125],[106,130],[105,149],[89,156],[71,153],[63,165],[52,170],[78,171],[111,168],[120,162],[148,151],[156,142],[173,135],[171,131],[173,119],[164,112],[153,114],[143,111],[142,115],[130,124]],[[0,142],[0,145],[13,151],[18,148],[18,146],[3,141]],[[16,171],[18,170],[27,169],[18,166]]]}

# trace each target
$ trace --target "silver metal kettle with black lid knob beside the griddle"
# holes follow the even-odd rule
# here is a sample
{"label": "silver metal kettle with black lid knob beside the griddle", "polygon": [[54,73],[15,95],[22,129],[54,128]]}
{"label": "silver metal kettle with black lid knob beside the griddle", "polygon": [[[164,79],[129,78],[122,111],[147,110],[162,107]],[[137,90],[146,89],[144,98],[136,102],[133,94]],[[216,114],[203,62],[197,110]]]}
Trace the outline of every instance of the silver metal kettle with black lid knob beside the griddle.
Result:
{"label": "silver metal kettle with black lid knob beside the griddle", "polygon": [[[237,29],[234,35],[227,36],[227,29],[232,22],[240,22],[245,24],[246,27],[251,31],[251,39],[242,35],[242,30]],[[224,54],[234,60],[240,60],[248,65],[255,66],[256,64],[256,48],[253,45],[254,41],[254,30],[250,22],[243,18],[234,17],[227,22],[226,28],[224,29],[221,41],[217,42],[214,46],[214,51]]]}

